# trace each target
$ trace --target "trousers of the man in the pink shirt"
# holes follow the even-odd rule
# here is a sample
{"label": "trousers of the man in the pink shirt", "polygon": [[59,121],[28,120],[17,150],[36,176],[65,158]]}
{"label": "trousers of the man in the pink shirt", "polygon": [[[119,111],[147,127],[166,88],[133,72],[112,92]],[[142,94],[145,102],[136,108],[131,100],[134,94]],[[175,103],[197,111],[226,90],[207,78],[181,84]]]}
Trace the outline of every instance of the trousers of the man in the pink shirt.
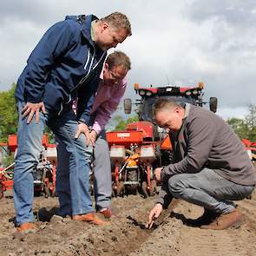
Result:
{"label": "trousers of the man in the pink shirt", "polygon": [[[91,154],[94,152],[94,192],[96,210],[110,207],[112,194],[111,165],[109,157],[108,142],[105,131],[95,141],[95,148],[89,146],[86,150]],[[70,206],[70,185],[69,185],[69,153],[62,141],[56,136],[58,163],[56,172],[56,194],[59,197],[61,216],[72,213]],[[94,149],[94,150],[93,150]],[[92,160],[90,161],[92,162]]]}

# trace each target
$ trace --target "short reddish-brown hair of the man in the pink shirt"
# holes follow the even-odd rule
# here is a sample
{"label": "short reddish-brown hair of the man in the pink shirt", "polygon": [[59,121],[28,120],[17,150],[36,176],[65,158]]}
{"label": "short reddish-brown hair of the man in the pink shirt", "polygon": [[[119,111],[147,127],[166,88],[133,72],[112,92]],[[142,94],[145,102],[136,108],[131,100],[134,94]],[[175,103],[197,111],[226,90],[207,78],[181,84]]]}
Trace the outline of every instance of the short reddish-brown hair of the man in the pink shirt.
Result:
{"label": "short reddish-brown hair of the man in the pink shirt", "polygon": [[124,69],[127,69],[127,71],[131,69],[131,62],[129,57],[119,50],[109,54],[106,59],[106,63],[108,64],[109,69],[113,69],[113,67],[118,66],[122,66]]}

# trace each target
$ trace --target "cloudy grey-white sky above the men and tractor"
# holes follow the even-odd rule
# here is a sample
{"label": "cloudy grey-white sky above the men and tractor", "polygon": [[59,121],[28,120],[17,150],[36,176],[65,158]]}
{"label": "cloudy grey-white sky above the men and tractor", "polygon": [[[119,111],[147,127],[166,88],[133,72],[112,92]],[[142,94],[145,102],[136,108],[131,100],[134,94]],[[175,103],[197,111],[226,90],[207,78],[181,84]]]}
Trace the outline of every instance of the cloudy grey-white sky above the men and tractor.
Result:
{"label": "cloudy grey-white sky above the men and tractor", "polygon": [[66,15],[125,13],[133,36],[126,97],[141,86],[204,82],[223,118],[256,103],[255,0],[1,0],[0,89],[10,89],[45,30]]}

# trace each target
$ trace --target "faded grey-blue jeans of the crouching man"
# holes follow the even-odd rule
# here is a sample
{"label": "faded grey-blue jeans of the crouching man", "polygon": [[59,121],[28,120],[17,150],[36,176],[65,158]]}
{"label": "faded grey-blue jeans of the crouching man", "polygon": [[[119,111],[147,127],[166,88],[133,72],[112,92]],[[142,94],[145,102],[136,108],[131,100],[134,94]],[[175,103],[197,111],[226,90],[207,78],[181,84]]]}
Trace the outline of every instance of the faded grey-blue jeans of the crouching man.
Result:
{"label": "faded grey-blue jeans of the crouching man", "polygon": [[235,204],[252,194],[254,186],[243,186],[227,181],[211,169],[197,174],[176,174],[168,180],[168,189],[175,198],[211,209],[216,213],[228,213]]}

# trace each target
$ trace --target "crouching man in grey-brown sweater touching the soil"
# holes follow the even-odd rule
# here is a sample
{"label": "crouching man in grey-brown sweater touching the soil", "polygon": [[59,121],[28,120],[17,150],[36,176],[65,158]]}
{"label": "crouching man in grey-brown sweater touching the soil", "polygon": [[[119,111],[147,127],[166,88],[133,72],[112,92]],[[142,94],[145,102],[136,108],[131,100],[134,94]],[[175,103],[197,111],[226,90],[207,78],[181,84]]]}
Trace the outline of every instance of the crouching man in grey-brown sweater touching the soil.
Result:
{"label": "crouching man in grey-brown sweater touching the soil", "polygon": [[160,99],[154,119],[170,131],[174,163],[154,170],[163,185],[149,228],[173,198],[204,207],[201,228],[240,226],[242,214],[232,200],[252,194],[256,172],[239,137],[218,115],[188,103],[182,108]]}

